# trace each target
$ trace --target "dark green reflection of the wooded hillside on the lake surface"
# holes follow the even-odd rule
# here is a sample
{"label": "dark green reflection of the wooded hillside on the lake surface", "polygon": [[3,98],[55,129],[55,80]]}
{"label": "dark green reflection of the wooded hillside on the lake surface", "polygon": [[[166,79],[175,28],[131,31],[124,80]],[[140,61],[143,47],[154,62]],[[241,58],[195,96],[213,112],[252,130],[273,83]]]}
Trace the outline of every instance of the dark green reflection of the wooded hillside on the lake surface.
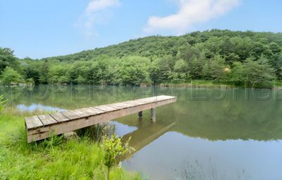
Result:
{"label": "dark green reflection of the wooded hillside on the lake surface", "polygon": [[[233,90],[225,90],[222,100],[214,100],[206,90],[204,100],[192,100],[192,91],[187,88],[137,88],[132,86],[92,86],[92,85],[39,85],[33,90],[20,87],[1,88],[1,94],[10,100],[9,104],[32,103],[75,109],[108,104],[125,100],[135,100],[152,95],[176,95],[178,101],[157,110],[158,121],[167,123],[175,120],[173,131],[187,136],[209,140],[254,139],[277,140],[282,138],[281,101],[274,100],[273,92],[269,100],[258,100],[259,90],[237,90],[234,100]],[[216,92],[218,93],[218,92]],[[216,97],[219,94],[214,93]],[[281,94],[281,93],[280,93]],[[145,112],[146,116],[146,112]],[[135,116],[134,116],[135,118]],[[133,116],[118,119],[123,124],[134,125]]]}

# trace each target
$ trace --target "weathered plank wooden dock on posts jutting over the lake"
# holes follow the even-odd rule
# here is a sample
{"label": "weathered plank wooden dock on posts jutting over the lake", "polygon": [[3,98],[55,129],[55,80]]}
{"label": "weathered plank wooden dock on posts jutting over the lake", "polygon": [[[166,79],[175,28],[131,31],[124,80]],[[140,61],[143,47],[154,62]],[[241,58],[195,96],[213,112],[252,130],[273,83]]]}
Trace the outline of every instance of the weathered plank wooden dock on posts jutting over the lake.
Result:
{"label": "weathered plank wooden dock on posts jutting over the lake", "polygon": [[27,117],[25,118],[27,142],[42,140],[49,136],[93,126],[94,124],[104,123],[137,112],[139,112],[138,115],[140,116],[142,115],[140,112],[146,109],[151,109],[151,119],[154,120],[155,108],[171,102],[176,102],[176,97],[161,95],[140,100]]}

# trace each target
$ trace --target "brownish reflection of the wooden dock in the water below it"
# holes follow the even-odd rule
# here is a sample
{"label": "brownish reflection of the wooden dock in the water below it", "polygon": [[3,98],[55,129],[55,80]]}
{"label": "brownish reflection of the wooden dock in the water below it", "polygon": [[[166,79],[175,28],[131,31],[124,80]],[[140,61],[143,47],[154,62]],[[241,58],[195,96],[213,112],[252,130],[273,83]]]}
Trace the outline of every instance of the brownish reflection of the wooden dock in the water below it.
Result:
{"label": "brownish reflection of the wooden dock in the water below it", "polygon": [[131,137],[130,146],[135,149],[135,152],[137,152],[149,143],[152,143],[152,141],[159,138],[159,136],[166,133],[166,131],[168,131],[169,128],[173,127],[174,125],[176,125],[175,122],[171,124],[152,123],[147,126],[140,127],[132,133],[126,134],[125,136],[123,136],[123,142]]}

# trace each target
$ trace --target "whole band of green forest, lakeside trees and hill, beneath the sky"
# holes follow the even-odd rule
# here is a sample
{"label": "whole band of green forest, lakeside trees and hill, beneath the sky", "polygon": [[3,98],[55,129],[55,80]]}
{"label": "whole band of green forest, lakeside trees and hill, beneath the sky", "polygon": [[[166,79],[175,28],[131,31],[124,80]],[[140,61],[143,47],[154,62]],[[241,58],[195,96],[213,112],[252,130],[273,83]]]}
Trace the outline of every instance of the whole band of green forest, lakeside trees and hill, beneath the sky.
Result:
{"label": "whole band of green forest, lakeside trees and hill, beneath the sky", "polygon": [[1,83],[139,85],[214,80],[267,86],[282,78],[282,33],[209,30],[152,36],[45,59],[0,49]]}

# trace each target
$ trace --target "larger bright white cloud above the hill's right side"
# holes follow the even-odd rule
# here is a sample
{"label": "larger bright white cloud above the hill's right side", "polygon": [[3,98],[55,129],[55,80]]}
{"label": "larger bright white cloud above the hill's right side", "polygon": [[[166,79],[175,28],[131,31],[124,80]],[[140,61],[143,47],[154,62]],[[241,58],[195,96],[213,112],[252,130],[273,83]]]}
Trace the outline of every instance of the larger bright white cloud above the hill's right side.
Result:
{"label": "larger bright white cloud above the hill's right side", "polygon": [[238,6],[239,2],[240,0],[177,0],[177,13],[165,17],[149,17],[143,31],[154,33],[169,30],[175,34],[183,34],[192,25],[222,16]]}

